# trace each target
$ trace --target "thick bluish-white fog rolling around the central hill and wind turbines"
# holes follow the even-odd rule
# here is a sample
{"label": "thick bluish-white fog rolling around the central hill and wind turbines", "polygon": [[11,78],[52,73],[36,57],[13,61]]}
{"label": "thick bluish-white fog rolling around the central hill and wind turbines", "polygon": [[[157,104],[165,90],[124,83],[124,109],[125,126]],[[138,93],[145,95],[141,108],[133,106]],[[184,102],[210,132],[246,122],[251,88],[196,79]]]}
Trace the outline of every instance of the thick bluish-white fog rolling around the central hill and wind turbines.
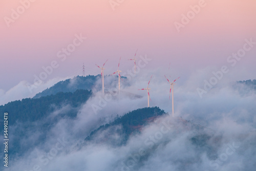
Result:
{"label": "thick bluish-white fog rolling around the central hill and wind turbines", "polygon": [[[115,130],[120,129],[120,125],[99,132],[92,141],[84,143],[84,138],[91,131],[113,121],[117,114],[122,116],[147,105],[146,92],[137,89],[146,87],[150,76],[146,72],[138,75],[125,88],[126,92],[139,94],[142,98],[130,98],[120,93],[119,97],[112,95],[104,103],[101,91],[94,90],[94,95],[81,105],[76,118],[57,120],[47,131],[45,142],[16,158],[6,170],[31,170],[35,165],[39,165],[42,171],[254,170],[256,94],[243,94],[232,84],[220,83],[200,98],[196,91],[199,83],[193,84],[193,81],[208,77],[203,70],[191,74],[187,80],[176,82],[175,117],[159,117],[144,126],[139,134],[131,135],[121,146],[102,141],[107,135],[111,135],[108,136],[111,140],[119,141],[122,137],[115,134]],[[166,112],[172,111],[171,100],[168,99],[169,83],[162,74],[153,76],[150,88],[151,106],[158,105]],[[93,104],[100,106],[96,113]],[[62,106],[54,115],[68,108]],[[36,138],[28,136],[30,140]],[[61,147],[59,142],[66,143],[56,151],[55,148]]]}

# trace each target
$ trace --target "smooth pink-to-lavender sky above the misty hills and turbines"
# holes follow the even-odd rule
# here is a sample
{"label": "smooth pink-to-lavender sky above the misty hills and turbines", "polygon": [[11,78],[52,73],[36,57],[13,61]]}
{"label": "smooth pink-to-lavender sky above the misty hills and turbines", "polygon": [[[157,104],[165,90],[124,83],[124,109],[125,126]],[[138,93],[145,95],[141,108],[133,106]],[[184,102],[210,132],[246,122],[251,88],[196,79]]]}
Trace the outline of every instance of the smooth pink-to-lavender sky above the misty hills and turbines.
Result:
{"label": "smooth pink-to-lavender sky above the misty hills and turbines", "polygon": [[[164,74],[171,62],[169,74],[188,79],[207,67],[230,66],[227,57],[243,48],[245,39],[256,42],[254,0],[205,0],[180,32],[174,23],[201,1],[124,0],[113,10],[109,0],[37,0],[7,24],[12,9],[23,9],[21,2],[28,0],[0,2],[2,94],[21,81],[33,83],[53,60],[59,67],[45,81],[81,75],[83,62],[86,75],[97,75],[95,63],[106,59],[105,74],[112,74],[120,56],[120,69],[126,71],[133,67],[127,59],[139,49],[138,57],[152,58],[145,69]],[[87,39],[61,61],[57,53],[73,43],[75,34]],[[255,63],[256,45],[232,68],[231,80],[255,79]]]}

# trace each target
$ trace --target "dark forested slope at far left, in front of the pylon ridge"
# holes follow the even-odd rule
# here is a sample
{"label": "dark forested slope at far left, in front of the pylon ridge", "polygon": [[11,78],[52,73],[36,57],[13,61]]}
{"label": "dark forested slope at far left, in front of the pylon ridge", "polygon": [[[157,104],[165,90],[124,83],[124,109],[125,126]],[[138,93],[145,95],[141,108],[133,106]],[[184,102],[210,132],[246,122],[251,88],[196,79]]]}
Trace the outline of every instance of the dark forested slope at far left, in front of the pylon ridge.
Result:
{"label": "dark forested slope at far left, in front of the pylon ridge", "polygon": [[[55,95],[40,97],[36,99],[26,98],[9,102],[0,106],[0,112],[8,112],[10,155],[20,156],[25,151],[29,151],[33,146],[44,143],[51,128],[58,123],[61,118],[76,117],[79,107],[92,95],[88,90],[76,90],[74,93],[59,92]],[[66,111],[59,115],[48,118],[52,112],[61,106],[70,105]],[[33,141],[22,143],[26,135],[40,132]],[[3,129],[1,131],[3,135]]]}

